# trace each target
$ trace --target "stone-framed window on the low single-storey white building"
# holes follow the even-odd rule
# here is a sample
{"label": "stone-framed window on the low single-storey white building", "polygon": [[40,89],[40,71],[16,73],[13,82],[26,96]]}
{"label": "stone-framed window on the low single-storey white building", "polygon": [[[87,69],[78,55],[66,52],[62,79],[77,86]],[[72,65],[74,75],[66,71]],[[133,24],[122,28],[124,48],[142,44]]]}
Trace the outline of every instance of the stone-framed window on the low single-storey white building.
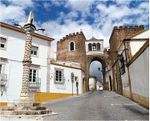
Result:
{"label": "stone-framed window on the low single-storey white building", "polygon": [[55,68],[55,83],[63,83],[64,74],[62,69]]}

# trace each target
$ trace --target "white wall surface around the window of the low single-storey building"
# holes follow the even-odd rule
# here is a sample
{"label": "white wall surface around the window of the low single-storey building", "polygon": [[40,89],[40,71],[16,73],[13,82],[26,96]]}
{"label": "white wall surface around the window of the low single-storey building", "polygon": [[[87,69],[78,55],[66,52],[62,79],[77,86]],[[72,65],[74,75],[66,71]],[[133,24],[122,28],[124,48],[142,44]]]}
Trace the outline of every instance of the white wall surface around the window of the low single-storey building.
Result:
{"label": "white wall surface around the window of the low single-storey building", "polygon": [[[64,78],[65,82],[63,84],[56,84],[55,81],[55,68],[63,69],[64,70]],[[72,93],[72,82],[71,82],[71,73],[74,73],[74,76],[79,78],[79,94],[82,93],[83,87],[83,79],[82,79],[82,71],[79,69],[59,66],[59,65],[50,65],[50,92],[51,93]],[[76,94],[76,83],[73,83],[73,93]]]}

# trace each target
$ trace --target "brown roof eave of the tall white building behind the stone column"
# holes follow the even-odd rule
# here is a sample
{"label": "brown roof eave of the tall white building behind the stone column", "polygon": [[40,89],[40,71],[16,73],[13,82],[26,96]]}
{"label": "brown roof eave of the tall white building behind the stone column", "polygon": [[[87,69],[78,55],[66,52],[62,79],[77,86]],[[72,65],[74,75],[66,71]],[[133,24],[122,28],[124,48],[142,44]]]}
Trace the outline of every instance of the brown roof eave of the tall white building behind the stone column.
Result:
{"label": "brown roof eave of the tall white building behind the stone column", "polygon": [[[15,26],[12,26],[12,25],[9,25],[9,24],[6,24],[6,23],[3,23],[3,22],[0,22],[0,27],[4,27],[4,28],[11,29],[11,30],[14,30],[14,31],[17,31],[17,32],[25,34],[25,31],[23,29],[15,27]],[[44,35],[41,35],[41,34],[38,34],[38,33],[33,33],[33,36],[37,37],[37,38],[40,38],[40,39],[47,40],[47,41],[54,40],[53,38],[50,38],[48,36],[44,36]]]}

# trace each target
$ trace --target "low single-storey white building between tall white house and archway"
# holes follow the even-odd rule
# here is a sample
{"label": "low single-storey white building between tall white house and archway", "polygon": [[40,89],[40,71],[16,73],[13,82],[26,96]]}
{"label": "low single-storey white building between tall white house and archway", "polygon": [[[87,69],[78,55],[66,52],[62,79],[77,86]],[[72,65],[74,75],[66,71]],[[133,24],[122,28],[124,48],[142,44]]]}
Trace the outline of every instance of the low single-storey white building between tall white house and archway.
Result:
{"label": "low single-storey white building between tall white house and archway", "polygon": [[78,94],[83,93],[84,73],[81,65],[75,62],[50,62],[50,92]]}

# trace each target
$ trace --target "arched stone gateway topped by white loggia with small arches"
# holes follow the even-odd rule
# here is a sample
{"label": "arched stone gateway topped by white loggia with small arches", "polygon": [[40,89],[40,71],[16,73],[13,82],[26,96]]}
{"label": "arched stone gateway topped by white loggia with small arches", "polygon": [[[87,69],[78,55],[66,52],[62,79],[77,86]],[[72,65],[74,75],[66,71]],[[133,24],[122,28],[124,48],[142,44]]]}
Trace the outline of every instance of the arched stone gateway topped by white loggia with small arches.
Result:
{"label": "arched stone gateway topped by white loggia with small arches", "polygon": [[[106,89],[106,81],[105,81],[105,67],[106,67],[106,55],[103,53],[103,39],[96,39],[92,37],[89,40],[86,40],[86,73],[87,73],[87,81],[90,78],[90,64],[93,61],[99,61],[102,64],[102,74],[103,74],[103,89]],[[91,45],[91,46],[90,46]],[[92,47],[94,46],[94,47]],[[93,49],[90,49],[93,48]],[[87,82],[88,84],[88,82]],[[88,85],[87,85],[88,86]]]}

